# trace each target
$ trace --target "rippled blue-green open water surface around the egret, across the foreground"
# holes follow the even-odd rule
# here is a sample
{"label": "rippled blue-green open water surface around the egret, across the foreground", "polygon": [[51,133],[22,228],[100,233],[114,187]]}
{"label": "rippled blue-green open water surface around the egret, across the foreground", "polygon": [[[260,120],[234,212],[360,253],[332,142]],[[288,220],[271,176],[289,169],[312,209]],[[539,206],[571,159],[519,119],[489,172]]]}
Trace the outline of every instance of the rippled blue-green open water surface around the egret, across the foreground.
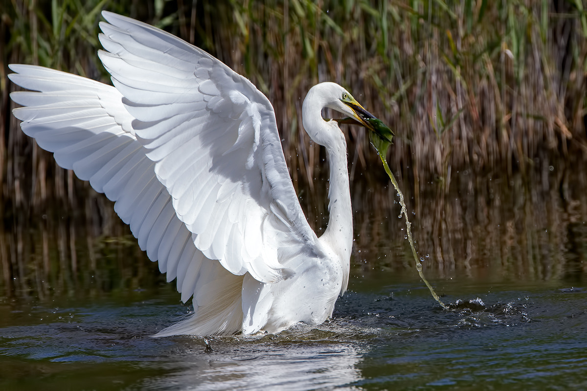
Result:
{"label": "rippled blue-green open water surface around the egret, across the foreground", "polygon": [[[403,281],[402,281],[403,280]],[[407,281],[406,281],[407,280]],[[4,300],[0,389],[585,389],[587,290],[354,280],[335,318],[278,335],[149,338],[187,310],[164,285]]]}

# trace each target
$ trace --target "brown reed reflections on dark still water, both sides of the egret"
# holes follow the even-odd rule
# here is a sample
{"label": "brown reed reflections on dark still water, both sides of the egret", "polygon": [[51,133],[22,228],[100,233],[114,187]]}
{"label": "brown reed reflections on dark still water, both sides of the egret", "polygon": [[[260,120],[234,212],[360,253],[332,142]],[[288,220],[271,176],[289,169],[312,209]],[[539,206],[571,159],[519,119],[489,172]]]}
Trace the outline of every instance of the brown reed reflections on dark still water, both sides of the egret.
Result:
{"label": "brown reed reflections on dark still water, both sides of the egret", "polygon": [[[526,175],[492,172],[481,176],[467,171],[453,173],[450,181],[443,178],[416,184],[409,168],[398,170],[426,274],[432,278],[583,283],[587,274],[587,176],[575,168],[587,166],[587,161],[551,163],[537,164]],[[323,174],[317,173],[312,191],[298,191],[302,208],[318,233],[328,220],[328,182]],[[353,276],[413,270],[393,186],[361,176],[356,175],[351,189]],[[48,210],[30,216],[31,220],[5,219],[0,230],[0,293],[43,298],[55,290],[76,292],[89,285],[99,294],[163,281],[157,267],[144,261],[146,255],[127,227],[108,215],[112,204],[105,199],[95,203],[92,208],[86,205],[85,215],[79,210],[56,212],[47,206]]]}

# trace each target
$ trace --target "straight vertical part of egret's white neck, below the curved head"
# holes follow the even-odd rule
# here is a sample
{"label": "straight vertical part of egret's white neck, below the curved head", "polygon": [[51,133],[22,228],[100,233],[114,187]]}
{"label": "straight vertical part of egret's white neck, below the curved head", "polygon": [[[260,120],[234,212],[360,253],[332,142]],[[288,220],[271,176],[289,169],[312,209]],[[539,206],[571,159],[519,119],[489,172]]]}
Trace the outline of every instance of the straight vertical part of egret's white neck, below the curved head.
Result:
{"label": "straight vertical part of egret's white neck, below the curved head", "polygon": [[333,250],[348,261],[353,244],[353,211],[350,205],[349,169],[346,159],[346,141],[340,133],[339,142],[326,148],[330,165],[328,189],[329,222],[323,239],[333,244]]}

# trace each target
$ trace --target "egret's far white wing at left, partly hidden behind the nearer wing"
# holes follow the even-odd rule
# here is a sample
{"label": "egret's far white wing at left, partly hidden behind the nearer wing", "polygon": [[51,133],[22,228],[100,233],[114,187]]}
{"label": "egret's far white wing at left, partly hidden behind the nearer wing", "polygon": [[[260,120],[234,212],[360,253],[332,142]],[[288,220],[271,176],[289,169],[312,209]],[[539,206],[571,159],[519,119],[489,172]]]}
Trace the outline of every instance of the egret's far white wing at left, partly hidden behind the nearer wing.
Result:
{"label": "egret's far white wing at left, partly hidden behind the nearer wing", "polygon": [[[180,323],[159,335],[231,334],[241,329],[241,286],[234,287],[242,285],[243,277],[233,276],[194,246],[193,234],[177,218],[171,196],[156,178],[154,162],[133,134],[133,118],[122,95],[112,86],[69,73],[29,65],[10,68],[17,72],[9,75],[15,84],[33,90],[11,94],[24,106],[13,111],[23,121],[22,130],[53,152],[60,166],[73,169],[114,200],[114,210],[130,225],[141,249],[158,260],[167,281],[177,278],[181,300],[194,296],[189,327],[177,327]],[[222,304],[209,297],[211,285]]]}

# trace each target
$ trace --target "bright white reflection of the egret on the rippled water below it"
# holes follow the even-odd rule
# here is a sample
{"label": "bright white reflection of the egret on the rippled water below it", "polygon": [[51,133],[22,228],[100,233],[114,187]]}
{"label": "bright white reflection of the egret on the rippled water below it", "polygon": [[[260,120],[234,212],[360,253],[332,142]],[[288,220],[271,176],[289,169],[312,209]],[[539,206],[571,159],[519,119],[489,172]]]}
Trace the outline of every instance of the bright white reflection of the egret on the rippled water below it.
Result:
{"label": "bright white reflection of the egret on the rippled water below it", "polygon": [[356,382],[360,348],[353,342],[332,341],[332,335],[296,330],[264,338],[212,339],[214,351],[204,354],[198,341],[177,358],[173,373],[149,379],[141,387],[166,389],[171,382],[207,390],[315,389]]}

